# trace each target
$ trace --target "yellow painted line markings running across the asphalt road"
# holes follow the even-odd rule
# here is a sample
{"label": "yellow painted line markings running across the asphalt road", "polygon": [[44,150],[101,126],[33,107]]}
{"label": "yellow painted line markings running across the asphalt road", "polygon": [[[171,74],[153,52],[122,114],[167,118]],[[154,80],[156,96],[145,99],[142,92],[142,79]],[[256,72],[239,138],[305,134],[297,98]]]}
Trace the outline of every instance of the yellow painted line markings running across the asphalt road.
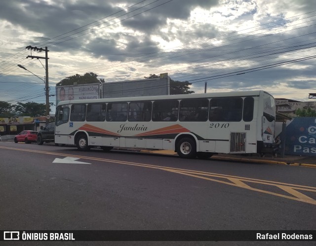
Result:
{"label": "yellow painted line markings running across the asphalt road", "polygon": [[[141,163],[134,163],[134,162],[126,162],[126,161],[118,161],[118,160],[111,160],[111,159],[103,159],[103,158],[96,158],[96,157],[86,157],[86,156],[79,156],[79,155],[68,155],[68,154],[61,154],[55,152],[47,152],[47,151],[39,151],[39,150],[26,150],[26,149],[18,149],[18,148],[9,148],[9,147],[2,147],[2,149],[9,149],[9,150],[17,150],[17,151],[26,151],[26,152],[34,152],[39,154],[46,154],[46,155],[56,155],[56,156],[65,156],[65,157],[76,157],[80,159],[86,160],[94,160],[94,161],[101,161],[101,162],[108,162],[108,163],[115,163],[115,164],[124,164],[124,165],[133,165],[133,166],[140,166],[146,168],[153,168],[153,169],[160,169],[164,171],[169,171],[173,173],[178,173],[182,175],[187,175],[195,178],[200,178],[208,181],[218,182],[226,185],[231,185],[239,188],[244,188],[252,191],[257,191],[261,193],[266,193],[282,198],[287,198],[299,202],[304,202],[308,204],[316,205],[316,200],[302,194],[298,190],[301,191],[310,191],[316,192],[316,187],[311,186],[303,186],[303,185],[295,185],[295,184],[288,184],[276,181],[269,181],[269,180],[261,180],[261,179],[254,179],[254,178],[247,178],[247,177],[239,177],[239,176],[232,176],[232,175],[225,175],[225,174],[218,174],[218,173],[211,173],[211,172],[204,172],[204,171],[197,171],[197,170],[190,170],[190,169],[182,169],[182,168],[175,168],[175,167],[167,167],[167,166],[160,166],[160,165],[152,165],[152,164],[141,164]],[[213,177],[213,178],[210,178]],[[218,180],[216,178],[226,179],[227,181]],[[244,183],[257,183],[269,186],[275,186],[280,188],[281,190],[289,193],[292,196],[286,196],[283,194],[278,194],[276,192],[270,192],[262,189],[253,188],[250,185]]]}

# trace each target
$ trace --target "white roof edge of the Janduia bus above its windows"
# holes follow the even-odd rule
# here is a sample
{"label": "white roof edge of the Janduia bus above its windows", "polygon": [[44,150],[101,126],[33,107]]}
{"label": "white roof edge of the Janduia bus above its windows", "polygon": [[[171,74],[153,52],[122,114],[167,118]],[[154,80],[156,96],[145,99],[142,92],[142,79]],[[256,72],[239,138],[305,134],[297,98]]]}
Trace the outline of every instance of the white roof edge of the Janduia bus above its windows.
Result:
{"label": "white roof edge of the Janduia bus above its windows", "polygon": [[[77,104],[77,103],[98,103],[98,102],[130,102],[130,101],[155,101],[163,99],[190,99],[190,98],[211,98],[211,97],[232,97],[232,96],[259,96],[260,93],[270,93],[263,90],[250,91],[231,91],[231,92],[213,92],[213,93],[192,93],[178,95],[160,95],[160,96],[135,96],[135,97],[115,97],[99,99],[82,99],[82,100],[65,100],[58,103],[59,105]],[[273,96],[272,96],[273,97]]]}

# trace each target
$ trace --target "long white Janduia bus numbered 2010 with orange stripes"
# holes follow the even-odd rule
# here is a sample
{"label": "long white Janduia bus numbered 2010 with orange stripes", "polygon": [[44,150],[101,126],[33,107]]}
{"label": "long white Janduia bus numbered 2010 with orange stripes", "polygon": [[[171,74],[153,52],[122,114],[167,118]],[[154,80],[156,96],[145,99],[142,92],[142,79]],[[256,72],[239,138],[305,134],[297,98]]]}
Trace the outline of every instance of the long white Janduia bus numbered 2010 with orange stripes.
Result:
{"label": "long white Janduia bus numbered 2010 with orange stripes", "polygon": [[55,143],[174,150],[182,158],[264,153],[275,114],[275,99],[263,90],[62,101]]}

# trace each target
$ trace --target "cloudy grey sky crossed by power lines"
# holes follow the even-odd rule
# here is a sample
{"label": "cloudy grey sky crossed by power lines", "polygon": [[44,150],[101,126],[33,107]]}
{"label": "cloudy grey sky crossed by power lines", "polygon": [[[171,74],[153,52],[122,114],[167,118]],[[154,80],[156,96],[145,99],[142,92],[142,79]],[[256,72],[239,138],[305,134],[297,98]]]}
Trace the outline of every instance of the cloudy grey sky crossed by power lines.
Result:
{"label": "cloudy grey sky crossed by power lines", "polygon": [[[92,72],[106,82],[168,73],[207,92],[316,93],[315,0],[10,0],[0,8],[0,101],[45,102],[49,86]],[[19,68],[21,64],[29,71]],[[50,102],[55,102],[50,97]]]}

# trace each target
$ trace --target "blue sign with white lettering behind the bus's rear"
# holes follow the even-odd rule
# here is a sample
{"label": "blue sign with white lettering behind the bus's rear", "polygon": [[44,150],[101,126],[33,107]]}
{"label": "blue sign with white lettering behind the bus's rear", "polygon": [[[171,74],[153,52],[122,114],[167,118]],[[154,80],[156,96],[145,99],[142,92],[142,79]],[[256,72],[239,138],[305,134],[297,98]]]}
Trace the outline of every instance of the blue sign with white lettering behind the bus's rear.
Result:
{"label": "blue sign with white lettering behind the bus's rear", "polygon": [[286,126],[285,155],[316,156],[316,118],[295,118]]}

